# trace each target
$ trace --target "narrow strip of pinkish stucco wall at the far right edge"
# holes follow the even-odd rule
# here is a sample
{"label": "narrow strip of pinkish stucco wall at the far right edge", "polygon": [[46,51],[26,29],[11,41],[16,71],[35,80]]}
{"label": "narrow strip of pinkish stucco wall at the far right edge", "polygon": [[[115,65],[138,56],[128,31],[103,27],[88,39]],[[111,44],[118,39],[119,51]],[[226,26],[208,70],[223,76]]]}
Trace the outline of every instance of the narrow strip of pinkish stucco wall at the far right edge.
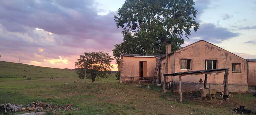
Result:
{"label": "narrow strip of pinkish stucco wall at the far right edge", "polygon": [[256,62],[248,62],[248,85],[256,86]]}

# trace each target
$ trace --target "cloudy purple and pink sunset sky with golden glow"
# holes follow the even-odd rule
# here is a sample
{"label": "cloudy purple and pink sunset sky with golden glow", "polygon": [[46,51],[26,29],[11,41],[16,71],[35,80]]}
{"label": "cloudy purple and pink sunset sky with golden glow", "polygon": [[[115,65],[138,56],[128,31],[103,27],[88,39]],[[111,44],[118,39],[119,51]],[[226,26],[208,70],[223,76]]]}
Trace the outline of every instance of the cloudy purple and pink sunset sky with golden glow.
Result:
{"label": "cloudy purple and pink sunset sky with golden glow", "polygon": [[[198,33],[182,47],[206,40],[243,58],[256,58],[256,2],[197,0]],[[84,52],[113,57],[122,42],[114,15],[124,0],[0,1],[1,61],[75,68]],[[114,68],[118,70],[115,60]]]}

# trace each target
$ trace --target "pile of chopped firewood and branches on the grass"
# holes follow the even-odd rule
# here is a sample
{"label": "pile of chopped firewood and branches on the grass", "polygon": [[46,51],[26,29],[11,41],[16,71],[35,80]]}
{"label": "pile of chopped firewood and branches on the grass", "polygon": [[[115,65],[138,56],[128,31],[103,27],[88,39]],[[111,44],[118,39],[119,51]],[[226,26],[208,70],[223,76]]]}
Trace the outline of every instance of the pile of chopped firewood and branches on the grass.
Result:
{"label": "pile of chopped firewood and branches on the grass", "polygon": [[30,105],[19,105],[19,104],[0,104],[0,112],[9,113],[9,112],[18,112],[18,111],[37,111],[41,112],[44,108],[50,108],[51,103],[46,104],[44,102],[38,101],[31,103]]}

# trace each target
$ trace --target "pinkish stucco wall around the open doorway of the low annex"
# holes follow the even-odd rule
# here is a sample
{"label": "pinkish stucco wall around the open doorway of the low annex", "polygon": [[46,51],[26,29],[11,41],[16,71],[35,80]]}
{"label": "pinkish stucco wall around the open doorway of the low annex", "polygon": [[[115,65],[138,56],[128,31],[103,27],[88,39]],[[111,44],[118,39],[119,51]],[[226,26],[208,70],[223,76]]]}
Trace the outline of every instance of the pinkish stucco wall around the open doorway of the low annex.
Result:
{"label": "pinkish stucco wall around the open doorway of the low annex", "polygon": [[121,77],[139,77],[140,61],[147,61],[147,77],[155,75],[156,57],[128,57],[122,59]]}

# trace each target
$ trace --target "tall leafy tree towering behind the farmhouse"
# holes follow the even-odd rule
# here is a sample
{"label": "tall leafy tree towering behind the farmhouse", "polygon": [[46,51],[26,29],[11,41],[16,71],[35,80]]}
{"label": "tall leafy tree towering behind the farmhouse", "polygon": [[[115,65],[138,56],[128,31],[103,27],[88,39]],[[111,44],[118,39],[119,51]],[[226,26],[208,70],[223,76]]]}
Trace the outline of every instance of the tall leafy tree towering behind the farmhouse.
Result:
{"label": "tall leafy tree towering behind the farmhouse", "polygon": [[126,0],[114,16],[117,28],[123,28],[123,41],[112,50],[116,63],[121,53],[166,52],[166,40],[172,51],[180,49],[191,28],[199,27],[193,5],[193,0]]}

